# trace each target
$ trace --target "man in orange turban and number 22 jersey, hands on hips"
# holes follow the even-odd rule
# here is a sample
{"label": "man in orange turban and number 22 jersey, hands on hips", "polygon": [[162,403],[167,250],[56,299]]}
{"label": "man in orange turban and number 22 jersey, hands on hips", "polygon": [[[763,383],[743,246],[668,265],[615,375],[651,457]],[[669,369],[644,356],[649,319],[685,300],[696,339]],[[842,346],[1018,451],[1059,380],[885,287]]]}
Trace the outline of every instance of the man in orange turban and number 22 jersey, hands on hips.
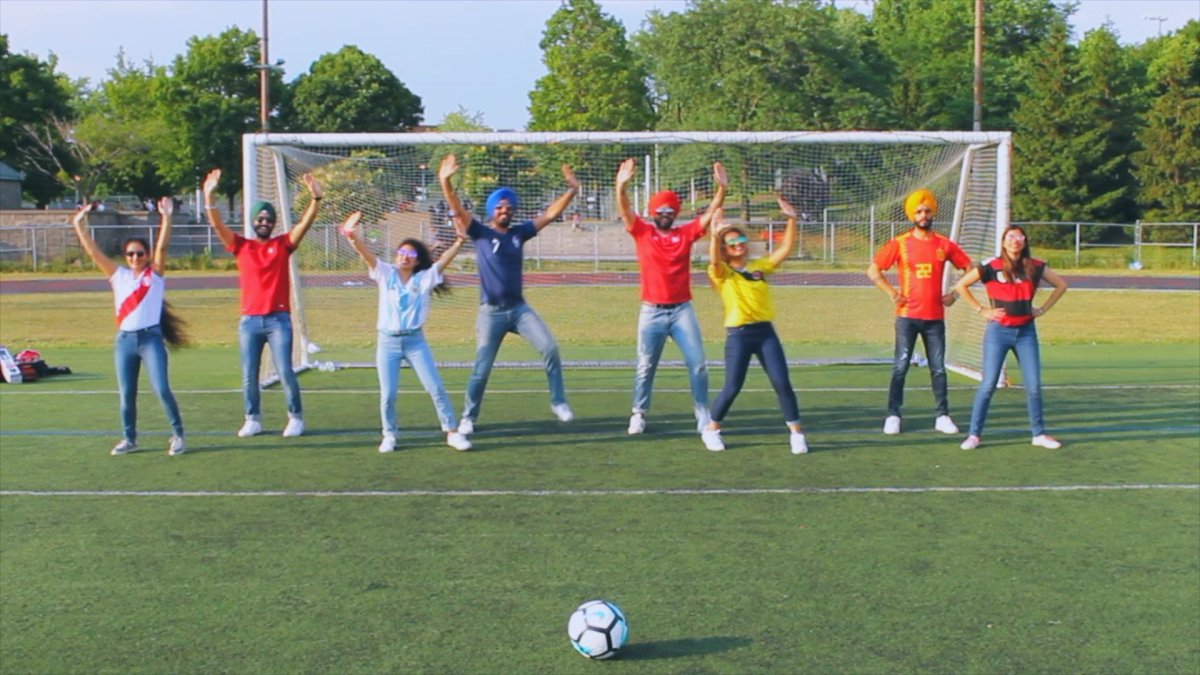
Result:
{"label": "man in orange turban and number 22 jersey, hands on hips", "polygon": [[[971,258],[950,239],[934,232],[937,198],[929,190],[917,190],[904,204],[905,215],[914,227],[883,245],[866,269],[866,276],[895,304],[895,359],[888,389],[888,417],[883,432],[900,432],[900,408],[904,406],[904,381],[908,375],[912,348],[920,335],[934,383],[937,418],[934,429],[958,434],[950,418],[946,386],[946,307],[954,304],[954,292],[942,293],[942,275],[949,262],[959,270],[971,267]],[[883,275],[896,265],[899,288]]]}

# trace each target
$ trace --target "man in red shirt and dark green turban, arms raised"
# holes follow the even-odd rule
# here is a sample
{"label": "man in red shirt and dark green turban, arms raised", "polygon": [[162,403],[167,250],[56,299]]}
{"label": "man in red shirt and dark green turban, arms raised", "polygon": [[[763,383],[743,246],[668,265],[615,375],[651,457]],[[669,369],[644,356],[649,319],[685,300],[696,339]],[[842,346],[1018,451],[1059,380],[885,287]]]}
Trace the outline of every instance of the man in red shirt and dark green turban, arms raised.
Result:
{"label": "man in red shirt and dark green turban, arms raised", "polygon": [[212,169],[204,178],[204,209],[226,250],[238,259],[238,282],[241,287],[241,321],[238,344],[241,348],[241,388],[246,420],[238,435],[254,436],[263,431],[259,407],[258,371],[263,347],[271,346],[275,370],[280,374],[288,404],[288,424],[284,436],[304,434],[304,408],[300,404],[300,383],[292,370],[292,281],[290,258],[308,228],[317,220],[317,209],[324,196],[320,183],[305,174],[311,199],[300,222],[288,232],[271,237],[275,231],[275,207],[258,202],[250,209],[254,238],[234,233],[221,220],[214,195],[221,180],[221,169]]}

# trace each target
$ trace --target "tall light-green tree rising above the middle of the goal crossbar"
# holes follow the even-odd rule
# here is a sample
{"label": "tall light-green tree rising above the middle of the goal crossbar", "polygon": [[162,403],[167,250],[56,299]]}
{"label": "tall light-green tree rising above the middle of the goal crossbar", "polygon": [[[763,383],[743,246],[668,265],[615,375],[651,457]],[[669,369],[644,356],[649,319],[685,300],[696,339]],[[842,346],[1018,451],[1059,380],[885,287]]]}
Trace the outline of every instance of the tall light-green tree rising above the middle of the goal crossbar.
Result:
{"label": "tall light-green tree rising above the middle of the goal crossbar", "polygon": [[625,29],[595,0],[566,0],[539,46],[547,73],[529,92],[533,131],[642,131],[654,126],[646,68]]}

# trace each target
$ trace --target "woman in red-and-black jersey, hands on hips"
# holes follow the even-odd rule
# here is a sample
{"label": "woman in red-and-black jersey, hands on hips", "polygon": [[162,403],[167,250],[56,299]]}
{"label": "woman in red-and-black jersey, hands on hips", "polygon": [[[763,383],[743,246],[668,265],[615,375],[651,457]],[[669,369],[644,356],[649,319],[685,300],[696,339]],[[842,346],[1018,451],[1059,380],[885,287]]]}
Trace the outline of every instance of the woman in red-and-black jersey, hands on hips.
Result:
{"label": "woman in red-and-black jersey, hands on hips", "polygon": [[[976,281],[983,281],[991,301],[990,307],[983,306],[971,293],[970,286]],[[1054,292],[1040,307],[1036,307],[1033,297],[1042,281],[1050,283]],[[1033,319],[1050,311],[1067,292],[1067,282],[1045,262],[1030,255],[1025,231],[1014,225],[1004,231],[1000,256],[968,270],[954,289],[988,319],[983,338],[983,380],[976,392],[971,408],[971,431],[966,441],[962,441],[962,449],[973,450],[979,447],[983,424],[988,419],[988,406],[991,405],[991,395],[996,392],[996,382],[1009,351],[1016,354],[1021,366],[1033,444],[1051,450],[1061,448],[1062,443],[1045,432],[1042,417],[1042,356]]]}

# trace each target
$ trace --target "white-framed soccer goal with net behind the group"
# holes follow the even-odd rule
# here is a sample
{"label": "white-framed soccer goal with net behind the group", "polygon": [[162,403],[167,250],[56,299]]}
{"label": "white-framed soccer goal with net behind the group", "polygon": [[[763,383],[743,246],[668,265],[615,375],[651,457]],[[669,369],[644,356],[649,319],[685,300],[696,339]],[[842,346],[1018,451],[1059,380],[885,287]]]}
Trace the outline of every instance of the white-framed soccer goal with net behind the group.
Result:
{"label": "white-framed soccer goal with net behind the group", "polygon": [[[887,315],[878,293],[869,294],[865,269],[883,243],[908,228],[902,203],[912,190],[934,191],[938,231],[972,258],[996,253],[1009,219],[1007,132],[258,133],[245,136],[242,144],[245,203],[275,203],[282,227],[290,227],[307,205],[305,173],[325,190],[318,222],[293,261],[298,369],[373,366],[376,288],[336,228],[349,213],[362,211],[367,243],[384,259],[407,238],[439,255],[454,238],[437,180],[449,153],[462,167],[455,177],[458,195],[479,216],[487,195],[506,185],[520,197],[518,217],[532,217],[565,189],[562,165],[574,167],[582,191],[563,222],[526,245],[527,298],[554,331],[570,366],[632,366],[637,261],[613,193],[617,166],[626,157],[637,160],[640,172],[630,191],[635,210],[642,211],[648,195],[674,190],[683,201],[680,222],[708,205],[712,166],[721,161],[730,178],[722,221],[752,233],[756,255],[773,250],[782,233],[774,195],[797,208],[799,246],[773,277],[785,342],[794,338],[782,316],[803,317],[806,294],[815,289],[844,293],[847,310],[865,305],[876,317]],[[697,241],[692,293],[713,345],[724,340],[724,330],[720,301],[704,276],[706,256],[707,241]],[[479,303],[469,245],[448,273],[454,292],[434,300],[426,334],[442,365],[468,366]],[[943,283],[953,281],[948,275]],[[882,334],[860,335],[852,313],[796,330],[844,329],[853,339],[811,341],[811,350],[809,340],[798,339],[805,344],[790,347],[788,356],[797,364],[889,362],[890,319],[884,318]],[[959,303],[948,311],[947,324],[948,364],[978,377],[983,322]],[[497,365],[541,368],[522,346],[506,341],[508,353]],[[709,347],[710,358],[718,350]]]}

